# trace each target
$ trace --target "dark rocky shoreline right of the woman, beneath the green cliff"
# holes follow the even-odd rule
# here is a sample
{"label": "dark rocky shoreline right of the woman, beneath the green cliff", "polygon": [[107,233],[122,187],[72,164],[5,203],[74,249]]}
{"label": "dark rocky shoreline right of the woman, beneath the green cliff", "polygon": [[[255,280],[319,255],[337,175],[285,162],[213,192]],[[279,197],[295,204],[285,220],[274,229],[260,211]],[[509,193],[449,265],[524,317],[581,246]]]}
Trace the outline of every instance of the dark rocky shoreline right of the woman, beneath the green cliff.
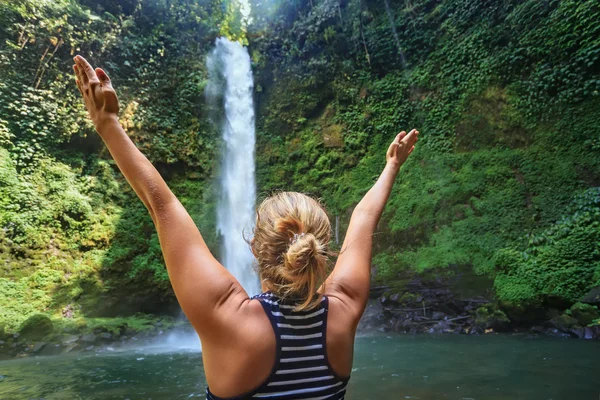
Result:
{"label": "dark rocky shoreline right of the woman, beneath the green cliff", "polygon": [[523,308],[492,296],[461,296],[452,279],[413,274],[402,290],[373,286],[359,329],[392,333],[534,334],[600,340],[600,288],[582,301],[559,308]]}

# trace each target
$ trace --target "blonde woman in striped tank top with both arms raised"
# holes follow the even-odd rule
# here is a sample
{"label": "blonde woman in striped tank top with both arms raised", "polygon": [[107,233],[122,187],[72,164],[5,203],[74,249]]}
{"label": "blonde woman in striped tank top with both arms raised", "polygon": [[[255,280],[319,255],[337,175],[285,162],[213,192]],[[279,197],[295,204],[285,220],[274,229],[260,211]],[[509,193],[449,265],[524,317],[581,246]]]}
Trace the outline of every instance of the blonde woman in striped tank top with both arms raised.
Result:
{"label": "blonde woman in striped tank top with both arms raised", "polygon": [[329,276],[331,229],[319,203],[300,193],[266,199],[250,243],[264,293],[249,298],[124,132],[106,73],[81,56],[73,68],[96,130],[156,226],[177,300],[202,341],[207,398],[343,399],[369,294],[372,234],[419,132],[401,132],[390,145]]}

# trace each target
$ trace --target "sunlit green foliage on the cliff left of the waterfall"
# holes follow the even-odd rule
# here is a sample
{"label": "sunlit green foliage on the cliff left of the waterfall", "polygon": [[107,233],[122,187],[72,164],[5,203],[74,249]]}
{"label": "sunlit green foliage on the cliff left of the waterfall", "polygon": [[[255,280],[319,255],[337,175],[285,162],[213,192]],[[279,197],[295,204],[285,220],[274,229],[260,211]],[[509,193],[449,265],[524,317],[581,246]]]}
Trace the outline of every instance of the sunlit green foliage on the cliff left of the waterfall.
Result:
{"label": "sunlit green foliage on the cliff left of the waterfall", "polygon": [[75,305],[80,318],[173,302],[155,228],[93,132],[72,56],[108,71],[128,133],[214,231],[201,201],[217,132],[202,103],[221,10],[215,0],[0,1],[0,320],[10,330],[38,311]]}

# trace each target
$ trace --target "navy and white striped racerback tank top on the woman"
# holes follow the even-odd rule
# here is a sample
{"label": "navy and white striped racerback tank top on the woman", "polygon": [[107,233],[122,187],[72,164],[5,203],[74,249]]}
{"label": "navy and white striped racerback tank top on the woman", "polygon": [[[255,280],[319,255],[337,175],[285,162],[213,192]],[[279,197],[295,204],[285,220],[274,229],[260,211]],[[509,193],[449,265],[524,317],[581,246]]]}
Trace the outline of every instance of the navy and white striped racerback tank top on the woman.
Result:
{"label": "navy and white striped racerback tank top on the woman", "polygon": [[275,331],[273,371],[257,389],[235,398],[214,396],[207,388],[207,400],[343,400],[349,378],[336,375],[327,360],[327,297],[309,311],[293,311],[293,302],[271,292],[252,298],[260,301]]}

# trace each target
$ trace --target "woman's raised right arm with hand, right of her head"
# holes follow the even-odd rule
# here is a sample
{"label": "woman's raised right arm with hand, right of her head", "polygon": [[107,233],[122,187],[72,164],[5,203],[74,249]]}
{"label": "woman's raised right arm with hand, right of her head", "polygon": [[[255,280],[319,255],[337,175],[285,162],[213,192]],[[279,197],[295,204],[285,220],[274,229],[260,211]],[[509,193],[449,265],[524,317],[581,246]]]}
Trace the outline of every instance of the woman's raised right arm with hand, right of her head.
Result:
{"label": "woman's raised right arm with hand, right of her head", "polygon": [[369,297],[373,233],[400,167],[414,150],[419,132],[399,133],[386,154],[386,165],[377,182],[355,207],[325,293],[339,298],[358,324]]}

